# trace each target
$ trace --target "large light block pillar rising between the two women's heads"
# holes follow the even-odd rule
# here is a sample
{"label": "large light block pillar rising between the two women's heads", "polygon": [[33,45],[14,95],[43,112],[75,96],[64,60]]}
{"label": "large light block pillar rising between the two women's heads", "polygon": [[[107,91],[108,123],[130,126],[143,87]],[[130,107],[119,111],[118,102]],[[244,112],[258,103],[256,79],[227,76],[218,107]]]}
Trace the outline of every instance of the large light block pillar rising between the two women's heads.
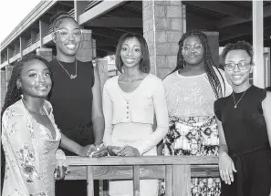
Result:
{"label": "large light block pillar rising between the two women's heads", "polygon": [[163,78],[176,67],[178,42],[186,31],[182,1],[143,1],[143,34],[147,40],[151,73]]}

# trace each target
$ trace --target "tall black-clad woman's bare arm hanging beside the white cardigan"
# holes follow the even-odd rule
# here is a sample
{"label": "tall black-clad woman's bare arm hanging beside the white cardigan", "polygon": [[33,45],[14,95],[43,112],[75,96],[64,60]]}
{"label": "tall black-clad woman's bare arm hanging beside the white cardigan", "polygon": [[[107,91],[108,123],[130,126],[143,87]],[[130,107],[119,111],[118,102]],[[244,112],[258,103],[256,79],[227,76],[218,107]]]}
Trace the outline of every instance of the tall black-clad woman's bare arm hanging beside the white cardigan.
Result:
{"label": "tall black-clad woman's bare arm hanging beside the white cardigan", "polygon": [[102,142],[105,121],[101,107],[101,92],[100,81],[97,67],[94,67],[94,86],[92,87],[93,102],[92,102],[92,122],[95,138],[95,145],[99,145]]}

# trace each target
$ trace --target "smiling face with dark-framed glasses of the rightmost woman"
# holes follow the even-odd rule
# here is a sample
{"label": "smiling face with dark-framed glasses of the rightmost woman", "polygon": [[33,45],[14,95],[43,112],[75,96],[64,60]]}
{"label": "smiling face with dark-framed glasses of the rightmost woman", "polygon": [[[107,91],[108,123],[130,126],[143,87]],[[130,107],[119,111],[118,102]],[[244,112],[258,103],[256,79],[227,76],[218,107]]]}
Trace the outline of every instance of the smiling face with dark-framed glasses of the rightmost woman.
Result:
{"label": "smiling face with dark-framed glasses of the rightmost woman", "polygon": [[249,74],[252,73],[253,67],[251,65],[251,57],[245,50],[231,50],[226,55],[224,64],[226,77],[231,80],[233,85],[240,86],[244,83],[249,83]]}

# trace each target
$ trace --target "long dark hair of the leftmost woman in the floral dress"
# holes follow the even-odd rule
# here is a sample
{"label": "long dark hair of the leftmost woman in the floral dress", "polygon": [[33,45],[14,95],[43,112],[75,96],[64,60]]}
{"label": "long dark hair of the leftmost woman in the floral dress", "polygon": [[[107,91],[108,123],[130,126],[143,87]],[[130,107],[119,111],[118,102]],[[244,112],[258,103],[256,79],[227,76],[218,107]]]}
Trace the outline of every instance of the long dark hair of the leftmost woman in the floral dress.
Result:
{"label": "long dark hair of the leftmost woman in the floral dress", "polygon": [[3,116],[6,108],[16,103],[16,101],[21,98],[22,90],[21,88],[17,88],[16,81],[21,76],[21,72],[23,67],[25,66],[25,63],[35,59],[43,62],[47,66],[50,76],[52,78],[51,67],[45,58],[36,56],[35,54],[30,54],[22,57],[18,62],[16,62],[15,67],[12,69],[11,77],[8,82],[7,91],[5,94],[5,103],[1,110],[1,117]]}

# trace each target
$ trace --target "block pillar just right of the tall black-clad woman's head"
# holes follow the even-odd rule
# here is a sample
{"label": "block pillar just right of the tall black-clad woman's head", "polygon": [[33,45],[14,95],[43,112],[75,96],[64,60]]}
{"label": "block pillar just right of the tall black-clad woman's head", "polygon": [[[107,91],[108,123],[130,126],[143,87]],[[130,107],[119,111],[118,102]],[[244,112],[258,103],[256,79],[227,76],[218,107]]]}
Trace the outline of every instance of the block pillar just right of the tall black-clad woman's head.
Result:
{"label": "block pillar just right of the tall black-clad woman's head", "polygon": [[93,57],[91,30],[83,29],[81,45],[78,48],[77,59],[83,62],[91,61]]}

